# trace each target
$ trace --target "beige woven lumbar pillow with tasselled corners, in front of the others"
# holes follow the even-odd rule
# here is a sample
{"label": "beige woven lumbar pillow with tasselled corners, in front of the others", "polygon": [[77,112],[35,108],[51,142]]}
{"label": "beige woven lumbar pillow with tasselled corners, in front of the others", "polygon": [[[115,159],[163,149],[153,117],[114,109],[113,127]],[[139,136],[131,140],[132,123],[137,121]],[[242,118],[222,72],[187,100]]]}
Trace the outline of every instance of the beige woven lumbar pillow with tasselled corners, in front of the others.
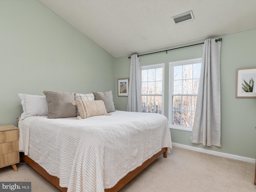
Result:
{"label": "beige woven lumbar pillow with tasselled corners, in front of the others", "polygon": [[102,100],[84,101],[75,100],[73,105],[78,108],[80,116],[78,119],[85,119],[92,116],[106,115],[107,111]]}

